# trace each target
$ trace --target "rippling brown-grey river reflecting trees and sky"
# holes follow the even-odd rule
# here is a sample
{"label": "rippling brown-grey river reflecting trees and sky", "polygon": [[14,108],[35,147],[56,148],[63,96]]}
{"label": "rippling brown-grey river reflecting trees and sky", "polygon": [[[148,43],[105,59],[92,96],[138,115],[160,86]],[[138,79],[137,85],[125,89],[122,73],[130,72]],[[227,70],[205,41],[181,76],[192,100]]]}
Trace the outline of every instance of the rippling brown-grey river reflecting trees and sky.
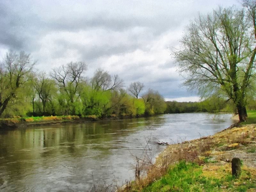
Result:
{"label": "rippling brown-grey river reflecting trees and sky", "polygon": [[213,135],[235,123],[230,114],[55,124],[0,131],[0,191],[90,191],[134,179],[135,157],[158,155],[157,141]]}

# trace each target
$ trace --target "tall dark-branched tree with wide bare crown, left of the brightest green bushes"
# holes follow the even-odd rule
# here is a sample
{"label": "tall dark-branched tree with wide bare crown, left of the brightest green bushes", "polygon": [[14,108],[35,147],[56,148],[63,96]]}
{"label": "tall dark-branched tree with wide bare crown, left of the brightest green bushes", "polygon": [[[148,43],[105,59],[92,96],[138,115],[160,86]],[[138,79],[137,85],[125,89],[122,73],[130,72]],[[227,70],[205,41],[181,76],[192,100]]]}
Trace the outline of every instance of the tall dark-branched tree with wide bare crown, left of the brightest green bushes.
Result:
{"label": "tall dark-branched tree with wide bare crown, left of the brightest green bushes", "polygon": [[84,82],[82,76],[87,69],[85,62],[69,62],[53,69],[51,77],[57,81],[60,87],[60,105],[66,107],[65,114],[76,114],[76,103],[79,101],[79,86]]}

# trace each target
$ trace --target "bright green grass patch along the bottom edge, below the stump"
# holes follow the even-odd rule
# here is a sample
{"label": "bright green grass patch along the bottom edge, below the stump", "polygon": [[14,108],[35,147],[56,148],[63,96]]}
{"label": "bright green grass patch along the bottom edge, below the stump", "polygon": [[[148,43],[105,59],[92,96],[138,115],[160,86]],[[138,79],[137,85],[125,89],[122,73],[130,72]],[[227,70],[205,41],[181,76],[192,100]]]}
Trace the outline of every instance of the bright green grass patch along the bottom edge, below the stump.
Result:
{"label": "bright green grass patch along the bottom edge, below the stump", "polygon": [[204,176],[203,166],[180,161],[160,180],[151,183],[143,191],[246,191],[256,189],[256,183],[248,180],[244,170],[240,179],[230,172],[220,170],[218,177]]}

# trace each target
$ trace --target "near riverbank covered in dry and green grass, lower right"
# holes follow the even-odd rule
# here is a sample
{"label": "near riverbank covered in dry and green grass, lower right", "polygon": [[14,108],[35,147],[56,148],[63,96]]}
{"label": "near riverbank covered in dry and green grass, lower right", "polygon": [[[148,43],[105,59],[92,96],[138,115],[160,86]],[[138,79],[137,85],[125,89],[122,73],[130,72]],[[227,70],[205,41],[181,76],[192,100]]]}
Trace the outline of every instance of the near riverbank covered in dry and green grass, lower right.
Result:
{"label": "near riverbank covered in dry and green grass, lower right", "polygon": [[[256,124],[237,124],[213,136],[169,145],[154,165],[138,164],[147,169],[147,177],[119,191],[255,191],[255,138]],[[239,178],[232,176],[234,157],[242,160]]]}

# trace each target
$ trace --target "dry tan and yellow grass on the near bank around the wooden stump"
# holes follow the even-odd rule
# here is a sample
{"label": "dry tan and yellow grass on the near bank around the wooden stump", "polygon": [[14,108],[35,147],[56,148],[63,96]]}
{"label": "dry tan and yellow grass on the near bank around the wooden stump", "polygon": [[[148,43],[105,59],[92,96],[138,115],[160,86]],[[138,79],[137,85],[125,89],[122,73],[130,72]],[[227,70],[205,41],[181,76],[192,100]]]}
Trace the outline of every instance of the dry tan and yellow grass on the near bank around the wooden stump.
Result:
{"label": "dry tan and yellow grass on the near bank around the wooden stump", "polygon": [[[203,166],[203,176],[209,180],[221,181],[225,177],[226,183],[221,189],[223,191],[228,191],[228,185],[237,185],[238,188],[243,187],[242,185],[251,185],[250,183],[256,182],[255,137],[256,125],[249,124],[228,128],[213,136],[169,145],[154,165],[147,166],[146,177],[129,183],[119,191],[142,191],[145,186],[162,178],[172,165],[181,160],[196,162]],[[227,182],[226,178],[232,176],[230,161],[234,157],[241,158],[243,162],[242,175],[240,180]]]}

